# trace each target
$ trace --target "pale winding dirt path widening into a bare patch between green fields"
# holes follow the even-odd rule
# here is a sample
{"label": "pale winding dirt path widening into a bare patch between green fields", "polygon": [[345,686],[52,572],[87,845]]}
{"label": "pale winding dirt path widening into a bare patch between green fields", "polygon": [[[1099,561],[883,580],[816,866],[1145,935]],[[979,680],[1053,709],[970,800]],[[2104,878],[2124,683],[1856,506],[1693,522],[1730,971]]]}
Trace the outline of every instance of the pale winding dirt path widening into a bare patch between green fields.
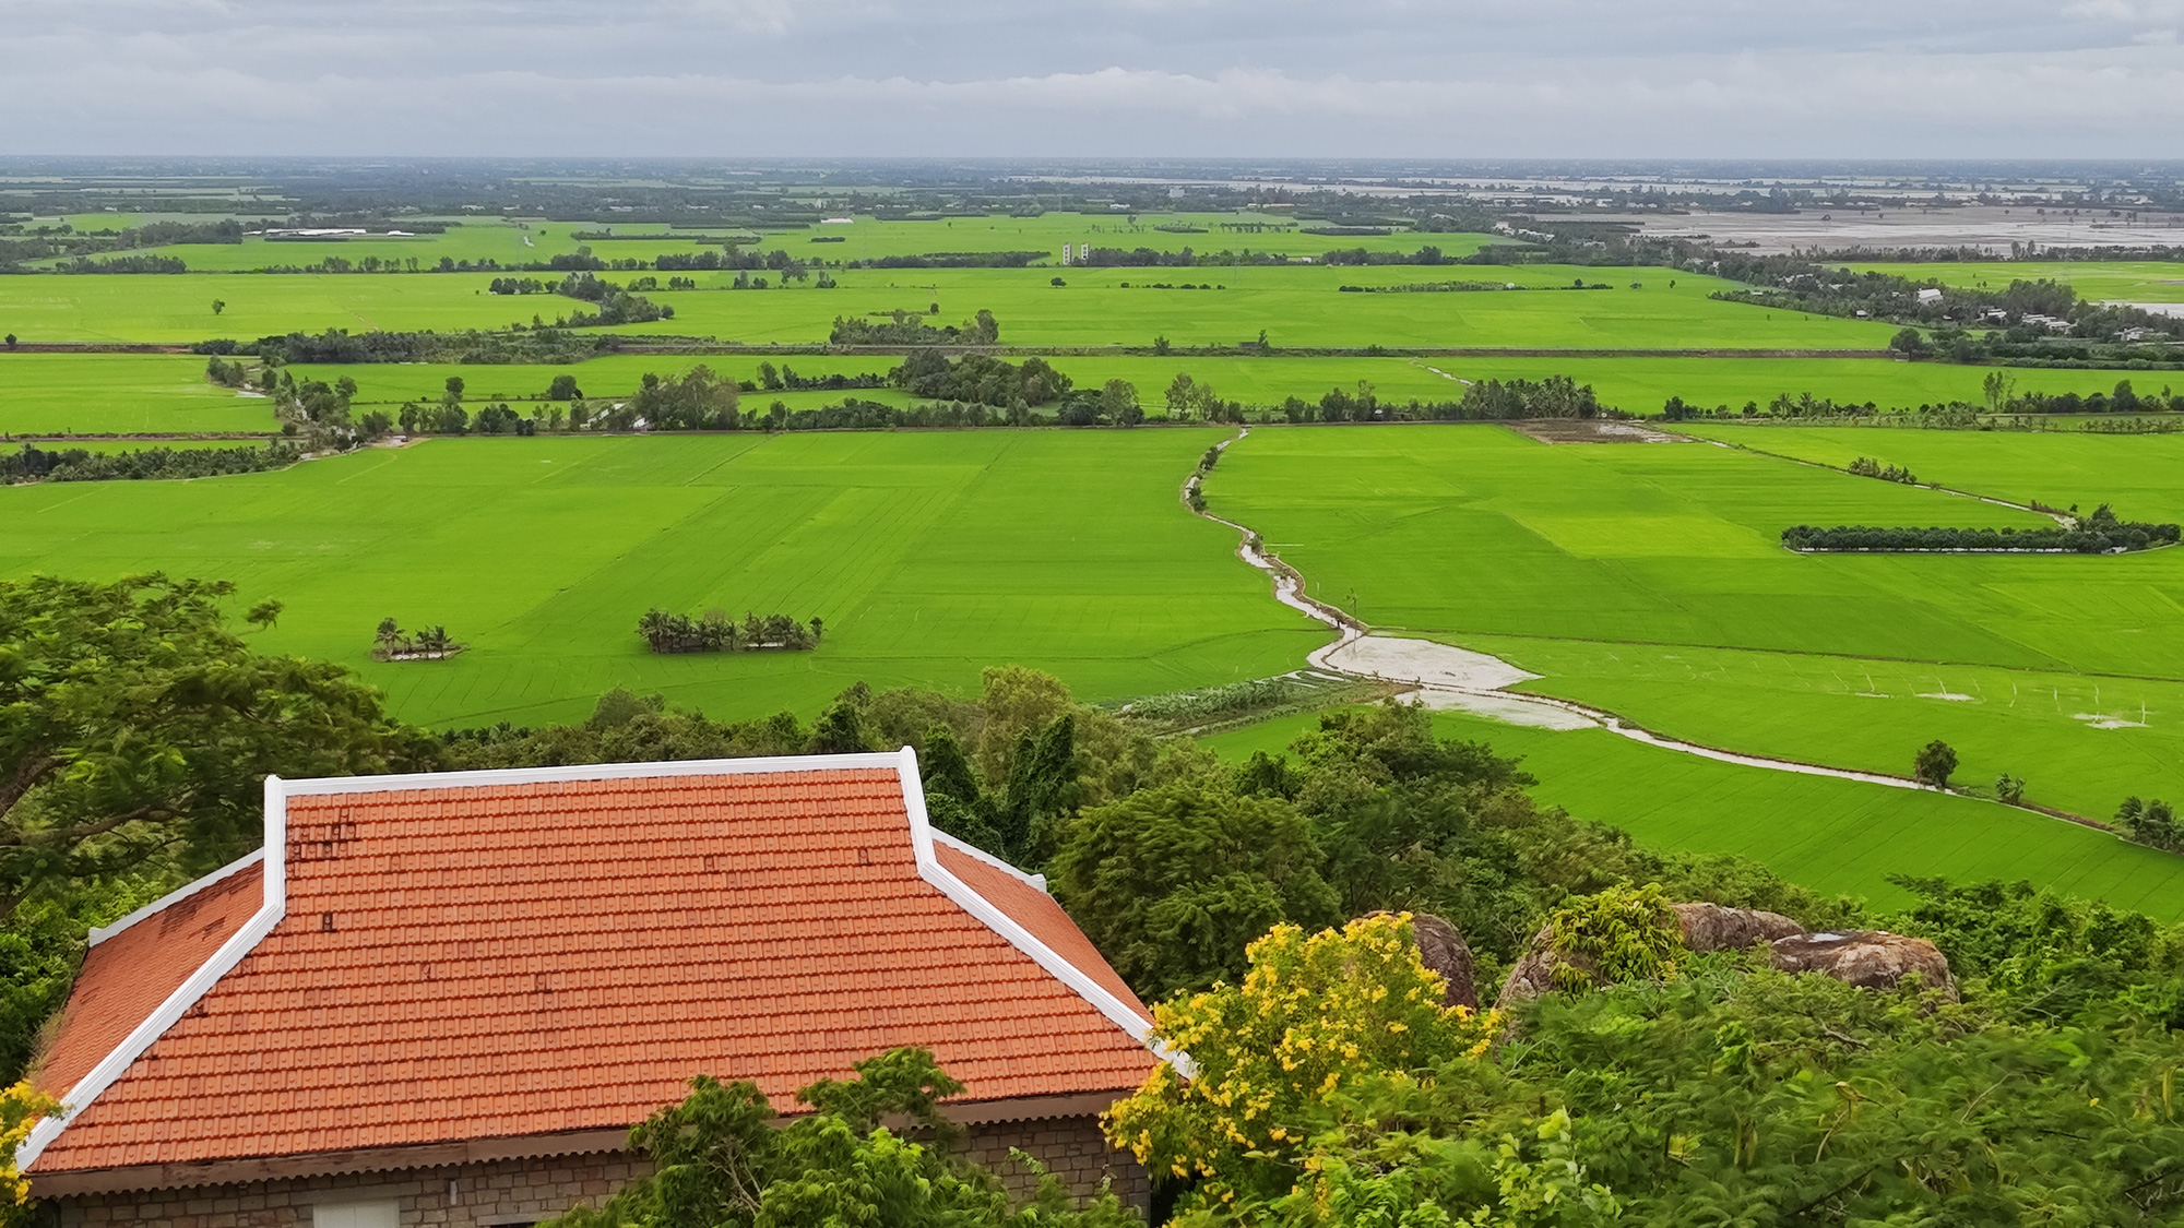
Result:
{"label": "pale winding dirt path widening into a bare patch between green fields", "polygon": [[[1223,439],[1214,448],[1225,452],[1230,444],[1251,435],[1251,428],[1238,428],[1234,439]],[[1199,487],[1199,474],[1192,472],[1184,481],[1182,498],[1184,507],[1190,507],[1190,492]],[[1979,496],[1974,496],[1979,498]],[[1540,677],[1538,673],[1527,673],[1496,656],[1479,653],[1472,649],[1459,649],[1455,645],[1441,645],[1435,640],[1411,640],[1400,636],[1374,636],[1372,627],[1358,618],[1341,612],[1317,597],[1304,592],[1304,577],[1297,568],[1269,555],[1260,546],[1260,535],[1234,520],[1223,520],[1212,511],[1197,511],[1214,524],[1227,524],[1243,535],[1236,546],[1236,557],[1251,564],[1254,568],[1269,572],[1273,577],[1273,597],[1282,605],[1302,610],[1304,614],[1326,623],[1334,629],[1334,642],[1310,653],[1310,664],[1328,673],[1341,673],[1350,677],[1363,677],[1374,682],[1398,682],[1415,688],[1417,701],[1426,708],[1439,712],[1472,712],[1494,721],[1507,721],[1511,725],[1531,725],[1540,730],[1592,730],[1601,728],[1634,743],[1645,743],[1660,749],[1673,749],[1679,754],[1695,754],[1699,758],[1712,758],[1717,763],[1734,763],[1741,767],[1765,767],[1769,771],[1793,771],[1797,776],[1830,776],[1835,780],[1856,780],[1861,784],[1883,784],[1887,789],[1922,789],[1931,791],[1926,784],[1911,780],[1909,776],[1889,776],[1883,771],[1852,771],[1848,767],[1824,767],[1817,763],[1797,763],[1793,758],[1771,758],[1760,754],[1741,754],[1734,749],[1710,747],[1701,743],[1686,743],[1679,739],[1669,739],[1634,725],[1623,717],[1607,712],[1605,708],[1592,708],[1588,704],[1575,704],[1570,699],[1551,699],[1546,695],[1524,695],[1509,690],[1522,682]],[[1979,798],[1985,800],[1985,798]],[[1994,802],[1996,806],[2005,802]],[[2035,811],[2057,819],[2101,828],[2105,824],[2094,824],[2077,815],[2064,815],[2060,811],[2014,806],[2022,811]]]}

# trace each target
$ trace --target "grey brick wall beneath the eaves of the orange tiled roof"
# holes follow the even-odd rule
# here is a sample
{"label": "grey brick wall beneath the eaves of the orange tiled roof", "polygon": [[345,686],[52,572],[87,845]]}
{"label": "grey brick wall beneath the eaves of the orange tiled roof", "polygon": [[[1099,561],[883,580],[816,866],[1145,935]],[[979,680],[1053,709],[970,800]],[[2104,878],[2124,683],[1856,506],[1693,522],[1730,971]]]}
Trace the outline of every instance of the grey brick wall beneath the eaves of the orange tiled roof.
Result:
{"label": "grey brick wall beneath the eaves of the orange tiled roof", "polygon": [[[1125,1204],[1144,1208],[1149,1182],[1127,1152],[1112,1152],[1099,1119],[1002,1121],[974,1125],[968,1156],[989,1165],[1011,1191],[1031,1189],[1031,1173],[1009,1160],[1009,1147],[1033,1154],[1079,1195],[1112,1178]],[[393,1173],[284,1178],[249,1184],[83,1193],[55,1200],[59,1228],[314,1228],[314,1204],[391,1200],[400,1228],[511,1228],[550,1219],[585,1202],[596,1206],[646,1160],[631,1154],[544,1156],[446,1165]]]}

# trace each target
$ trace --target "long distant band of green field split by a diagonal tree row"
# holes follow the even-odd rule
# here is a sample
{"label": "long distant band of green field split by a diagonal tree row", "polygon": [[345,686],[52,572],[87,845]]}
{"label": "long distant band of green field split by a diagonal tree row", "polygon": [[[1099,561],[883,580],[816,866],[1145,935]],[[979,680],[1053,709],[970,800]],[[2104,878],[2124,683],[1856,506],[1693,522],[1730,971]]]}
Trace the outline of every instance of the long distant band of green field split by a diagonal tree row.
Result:
{"label": "long distant band of green field split by a diagonal tree row", "polygon": [[[1535,291],[1354,295],[1345,284],[1489,275]],[[1061,275],[1066,286],[1048,284]],[[1559,291],[1572,278],[1607,291]],[[852,269],[841,284],[732,291],[701,273],[697,291],[649,293],[675,319],[618,328],[745,343],[821,343],[836,315],[939,304],[954,323],[985,308],[1009,345],[1236,345],[1265,330],[1275,345],[1422,347],[1800,347],[1880,350],[1889,326],[1806,317],[1710,299],[1712,278],[1662,269],[1271,267],[1271,269]],[[1671,288],[1669,282],[1675,282]],[[0,280],[0,330],[24,341],[201,341],[290,330],[507,328],[553,321],[579,304],[559,295],[491,295],[483,273],[177,273],[26,275]],[[1125,288],[1129,282],[1129,288]],[[1227,288],[1151,288],[1175,286]],[[1638,282],[1642,288],[1629,288]],[[225,304],[221,315],[212,302]]]}

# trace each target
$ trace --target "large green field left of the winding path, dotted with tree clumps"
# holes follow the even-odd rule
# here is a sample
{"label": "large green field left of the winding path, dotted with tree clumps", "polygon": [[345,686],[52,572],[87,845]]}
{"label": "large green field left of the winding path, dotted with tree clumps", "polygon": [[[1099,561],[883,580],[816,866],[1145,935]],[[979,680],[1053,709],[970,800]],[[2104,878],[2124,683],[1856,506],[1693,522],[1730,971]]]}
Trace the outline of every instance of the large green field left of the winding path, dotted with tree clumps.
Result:
{"label": "large green field left of the winding path, dotted with tree clumps", "polygon": [[[0,575],[227,577],[286,603],[264,651],[358,669],[435,725],[579,719],[616,684],[714,717],[1029,664],[1085,699],[1295,669],[1324,636],[1267,597],[1182,474],[1221,435],[895,433],[450,439],[192,483],[0,489]],[[644,651],[649,605],[826,618],[812,653]],[[450,662],[367,660],[382,616]]]}

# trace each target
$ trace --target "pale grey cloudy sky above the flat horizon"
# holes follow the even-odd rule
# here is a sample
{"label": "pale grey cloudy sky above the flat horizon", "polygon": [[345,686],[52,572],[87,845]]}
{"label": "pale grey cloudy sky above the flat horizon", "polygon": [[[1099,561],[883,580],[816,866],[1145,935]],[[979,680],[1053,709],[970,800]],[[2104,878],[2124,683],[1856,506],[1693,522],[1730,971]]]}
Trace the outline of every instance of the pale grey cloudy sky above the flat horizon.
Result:
{"label": "pale grey cloudy sky above the flat horizon", "polygon": [[0,153],[2184,157],[2184,0],[0,0]]}

